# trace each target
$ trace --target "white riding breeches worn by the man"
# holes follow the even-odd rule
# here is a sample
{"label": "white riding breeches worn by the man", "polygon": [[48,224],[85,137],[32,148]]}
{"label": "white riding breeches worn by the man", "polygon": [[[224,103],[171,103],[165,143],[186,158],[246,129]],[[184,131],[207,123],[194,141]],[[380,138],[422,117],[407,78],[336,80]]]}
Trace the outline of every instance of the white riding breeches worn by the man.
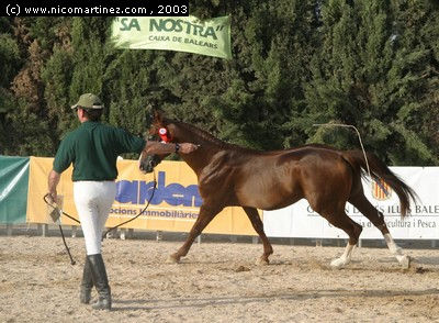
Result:
{"label": "white riding breeches worn by the man", "polygon": [[101,237],[114,198],[115,181],[75,181],[74,198],[87,255],[101,254]]}

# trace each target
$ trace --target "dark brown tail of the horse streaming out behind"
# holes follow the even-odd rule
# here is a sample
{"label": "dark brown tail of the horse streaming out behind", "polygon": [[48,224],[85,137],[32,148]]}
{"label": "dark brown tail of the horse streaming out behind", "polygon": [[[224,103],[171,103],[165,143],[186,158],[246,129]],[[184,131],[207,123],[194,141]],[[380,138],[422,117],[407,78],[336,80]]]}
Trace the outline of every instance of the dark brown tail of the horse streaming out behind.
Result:
{"label": "dark brown tail of the horse streaming out behind", "polygon": [[368,153],[368,164],[361,151],[348,151],[342,153],[344,158],[356,169],[361,171],[361,176],[368,175],[368,165],[371,177],[380,185],[380,179],[384,180],[398,196],[401,204],[401,216],[404,218],[409,211],[410,199],[416,203],[419,199],[416,192],[397,177],[383,162],[374,154]]}

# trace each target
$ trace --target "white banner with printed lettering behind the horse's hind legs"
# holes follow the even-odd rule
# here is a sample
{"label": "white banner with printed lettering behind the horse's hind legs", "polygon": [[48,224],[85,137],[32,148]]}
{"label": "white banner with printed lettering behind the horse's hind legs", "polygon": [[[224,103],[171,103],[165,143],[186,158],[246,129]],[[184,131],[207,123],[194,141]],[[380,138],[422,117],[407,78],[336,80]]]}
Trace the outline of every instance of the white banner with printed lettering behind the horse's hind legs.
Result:
{"label": "white banner with printed lettering behind the horse's hind legs", "polygon": [[[390,167],[419,196],[418,204],[412,203],[412,212],[401,219],[399,200],[389,189],[385,196],[374,181],[363,181],[369,201],[384,214],[394,238],[439,238],[439,167]],[[361,238],[382,238],[381,232],[350,203],[346,213],[363,226]],[[314,212],[306,200],[275,211],[263,211],[263,226],[268,236],[348,238],[340,229]]]}

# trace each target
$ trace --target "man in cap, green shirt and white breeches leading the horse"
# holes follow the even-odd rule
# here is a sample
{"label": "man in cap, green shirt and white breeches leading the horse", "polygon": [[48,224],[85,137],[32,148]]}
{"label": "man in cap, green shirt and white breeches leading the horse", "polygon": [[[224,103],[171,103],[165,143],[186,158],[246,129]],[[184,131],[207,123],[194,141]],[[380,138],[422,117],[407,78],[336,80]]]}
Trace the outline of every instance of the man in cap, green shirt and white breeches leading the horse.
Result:
{"label": "man in cap, green shirt and white breeches leading the horse", "polygon": [[196,146],[190,143],[176,145],[145,142],[122,129],[100,122],[103,111],[101,100],[82,94],[71,107],[81,125],[63,140],[48,175],[48,194],[57,201],[56,187],[60,174],[74,164],[74,199],[86,241],[87,257],[83,267],[80,302],[89,303],[91,289],[97,288],[99,298],[94,309],[111,310],[111,290],[105,265],[101,255],[101,235],[111,205],[116,196],[116,159],[124,153],[190,154]]}

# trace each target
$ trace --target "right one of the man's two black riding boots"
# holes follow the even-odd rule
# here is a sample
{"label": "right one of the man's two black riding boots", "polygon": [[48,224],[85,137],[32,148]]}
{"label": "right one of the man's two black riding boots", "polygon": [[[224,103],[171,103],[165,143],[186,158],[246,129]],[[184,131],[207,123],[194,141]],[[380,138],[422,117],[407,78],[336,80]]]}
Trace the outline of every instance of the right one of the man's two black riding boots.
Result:
{"label": "right one of the man's two black riding boots", "polygon": [[93,283],[99,296],[92,308],[94,310],[111,310],[111,290],[102,255],[89,255],[87,257],[90,260]]}

